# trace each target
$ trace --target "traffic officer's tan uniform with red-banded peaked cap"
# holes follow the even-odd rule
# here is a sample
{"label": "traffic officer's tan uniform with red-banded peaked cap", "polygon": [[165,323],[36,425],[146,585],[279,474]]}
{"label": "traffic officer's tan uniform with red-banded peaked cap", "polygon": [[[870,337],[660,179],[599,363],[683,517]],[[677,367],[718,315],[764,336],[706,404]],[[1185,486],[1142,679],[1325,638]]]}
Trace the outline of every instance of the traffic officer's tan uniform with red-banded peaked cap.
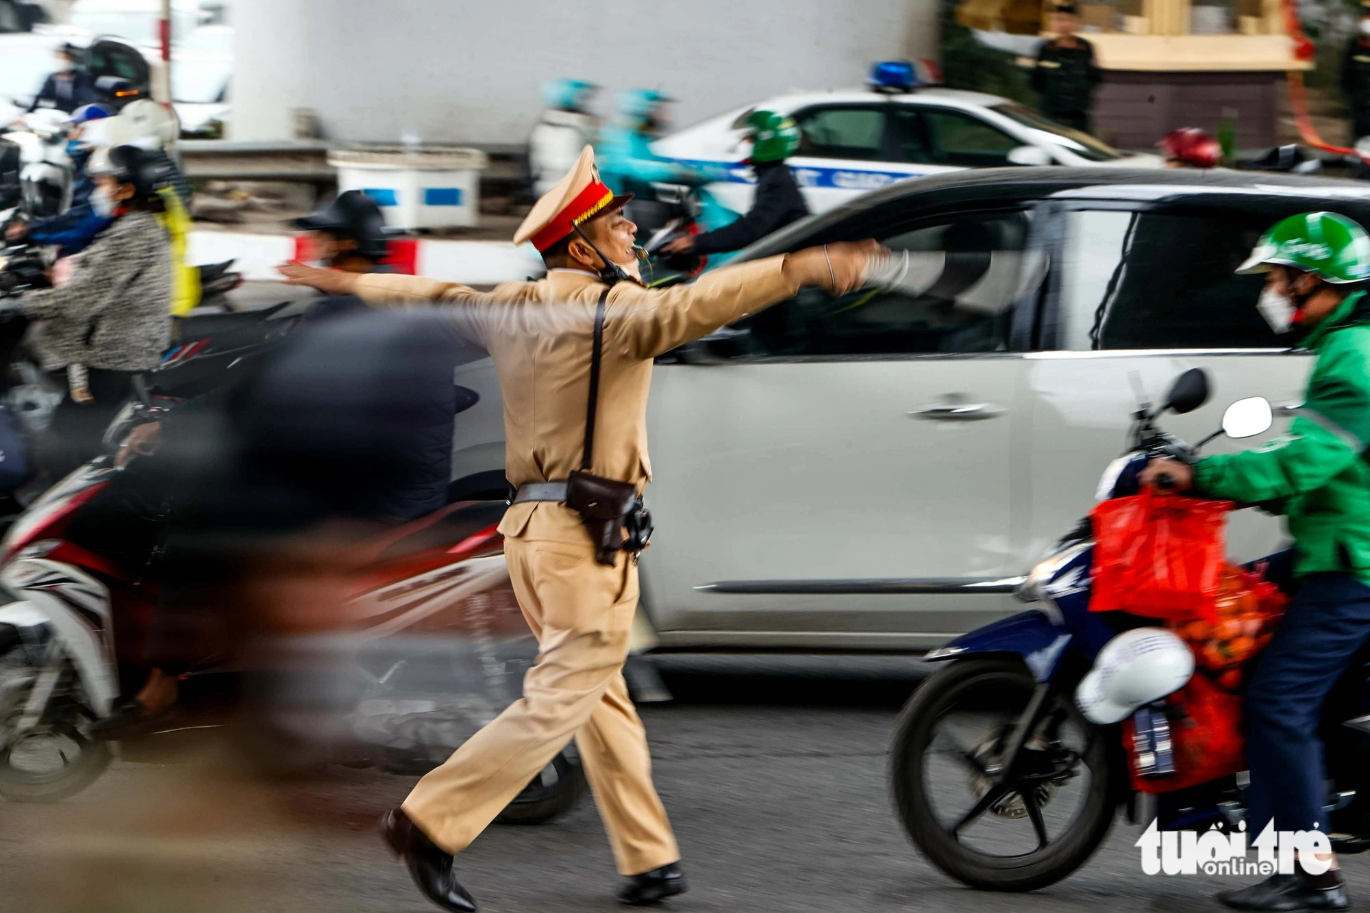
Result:
{"label": "traffic officer's tan uniform with red-banded peaked cap", "polygon": [[[589,146],[538,201],[515,235],[551,246],[573,224],[611,207]],[[564,229],[564,230],[563,230]],[[558,234],[559,233],[559,234]],[[647,394],[652,359],[799,290],[771,257],[706,274],[673,289],[619,282],[608,292],[590,472],[651,479]],[[515,486],[564,480],[580,468],[599,277],[553,270],[537,282],[480,293],[451,282],[371,274],[356,294],[377,307],[452,305],[452,322],[489,352],[504,400],[506,474]],[[643,724],[622,667],[637,609],[637,565],[595,560],[581,517],[564,504],[515,504],[500,523],[519,605],[541,647],[523,697],[425,776],[404,812],[448,853],[459,853],[574,736],[619,872],[680,858],[652,787]]]}

